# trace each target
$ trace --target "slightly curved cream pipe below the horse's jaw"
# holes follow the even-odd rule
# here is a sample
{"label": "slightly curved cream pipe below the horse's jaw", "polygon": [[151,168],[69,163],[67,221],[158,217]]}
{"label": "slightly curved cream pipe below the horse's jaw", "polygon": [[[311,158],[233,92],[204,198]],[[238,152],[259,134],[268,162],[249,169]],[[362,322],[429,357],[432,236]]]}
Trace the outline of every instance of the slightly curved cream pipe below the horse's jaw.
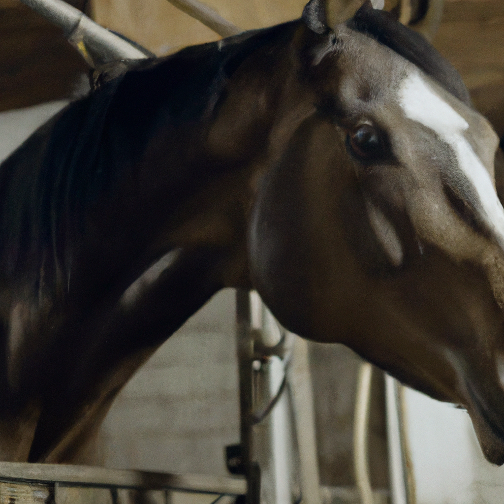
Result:
{"label": "slightly curved cream pipe below the horse's jaw", "polygon": [[367,432],[369,425],[369,403],[371,399],[372,367],[363,362],[359,368],[357,380],[357,395],[355,400],[355,416],[353,426],[353,463],[355,482],[362,504],[373,504],[373,492],[369,477],[367,457]]}

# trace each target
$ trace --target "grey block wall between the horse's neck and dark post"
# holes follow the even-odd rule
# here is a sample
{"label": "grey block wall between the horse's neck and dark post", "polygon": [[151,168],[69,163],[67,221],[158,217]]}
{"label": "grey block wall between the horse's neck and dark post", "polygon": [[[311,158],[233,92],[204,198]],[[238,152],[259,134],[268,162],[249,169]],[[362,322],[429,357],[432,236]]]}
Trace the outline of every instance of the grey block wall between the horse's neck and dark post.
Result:
{"label": "grey block wall between the horse's neck and dark post", "polygon": [[239,442],[234,290],[219,292],[116,398],[99,434],[110,468],[228,475]]}

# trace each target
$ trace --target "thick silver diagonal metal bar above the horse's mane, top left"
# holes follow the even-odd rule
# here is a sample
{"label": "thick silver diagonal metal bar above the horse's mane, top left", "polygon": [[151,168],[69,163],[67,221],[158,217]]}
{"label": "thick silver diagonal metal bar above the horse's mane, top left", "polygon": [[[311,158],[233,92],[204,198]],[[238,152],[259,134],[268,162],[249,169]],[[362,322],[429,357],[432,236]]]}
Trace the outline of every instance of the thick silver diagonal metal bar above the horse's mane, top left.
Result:
{"label": "thick silver diagonal metal bar above the horse's mane, top left", "polygon": [[23,4],[59,26],[88,64],[97,66],[121,59],[142,59],[149,55],[62,0],[21,0]]}

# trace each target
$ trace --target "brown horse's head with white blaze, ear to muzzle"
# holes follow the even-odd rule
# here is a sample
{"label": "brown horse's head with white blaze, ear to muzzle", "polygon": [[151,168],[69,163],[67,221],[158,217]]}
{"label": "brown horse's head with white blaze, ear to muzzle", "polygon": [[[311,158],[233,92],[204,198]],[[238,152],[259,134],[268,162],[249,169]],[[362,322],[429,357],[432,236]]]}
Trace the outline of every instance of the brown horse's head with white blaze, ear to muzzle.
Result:
{"label": "brown horse's head with white blaze, ear to muzzle", "polygon": [[254,286],[291,331],[345,343],[465,407],[486,458],[502,464],[497,136],[421,36],[368,5],[349,21],[329,14],[318,0],[303,13],[312,108],[258,184]]}

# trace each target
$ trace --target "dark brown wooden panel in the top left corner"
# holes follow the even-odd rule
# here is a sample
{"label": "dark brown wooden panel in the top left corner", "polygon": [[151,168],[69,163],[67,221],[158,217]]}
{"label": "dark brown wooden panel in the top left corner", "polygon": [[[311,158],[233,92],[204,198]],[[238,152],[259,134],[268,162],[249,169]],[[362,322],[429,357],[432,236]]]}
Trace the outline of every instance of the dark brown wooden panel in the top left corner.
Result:
{"label": "dark brown wooden panel in the top left corner", "polygon": [[87,72],[59,29],[0,0],[0,111],[70,97]]}

